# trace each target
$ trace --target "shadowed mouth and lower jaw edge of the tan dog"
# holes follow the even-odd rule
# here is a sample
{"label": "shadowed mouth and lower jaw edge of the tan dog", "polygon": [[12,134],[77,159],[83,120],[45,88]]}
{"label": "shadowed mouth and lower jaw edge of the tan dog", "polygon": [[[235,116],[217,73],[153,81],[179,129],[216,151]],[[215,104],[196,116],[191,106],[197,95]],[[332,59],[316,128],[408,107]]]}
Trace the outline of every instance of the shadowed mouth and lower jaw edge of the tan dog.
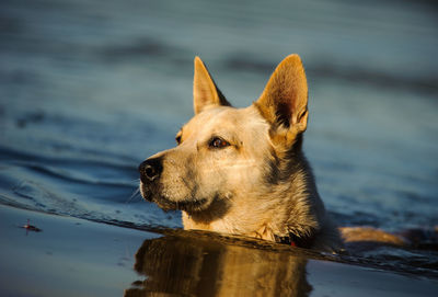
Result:
{"label": "shadowed mouth and lower jaw edge of the tan dog", "polygon": [[186,198],[183,201],[172,201],[163,195],[157,195],[160,191],[148,189],[145,184],[140,184],[141,196],[148,201],[155,203],[163,210],[185,210],[185,212],[199,212],[208,207],[208,199],[206,198]]}

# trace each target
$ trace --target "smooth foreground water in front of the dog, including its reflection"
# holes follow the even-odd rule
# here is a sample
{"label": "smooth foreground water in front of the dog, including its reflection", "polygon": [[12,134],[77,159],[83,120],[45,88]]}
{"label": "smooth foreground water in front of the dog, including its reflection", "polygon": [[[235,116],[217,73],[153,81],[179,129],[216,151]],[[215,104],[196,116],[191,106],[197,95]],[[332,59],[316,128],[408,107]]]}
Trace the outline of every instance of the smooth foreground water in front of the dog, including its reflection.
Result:
{"label": "smooth foreground water in front of the dog, including its reflection", "polygon": [[[41,232],[13,226],[20,218]],[[438,282],[217,233],[166,236],[0,205],[2,296],[435,296]],[[85,244],[84,244],[85,242]]]}

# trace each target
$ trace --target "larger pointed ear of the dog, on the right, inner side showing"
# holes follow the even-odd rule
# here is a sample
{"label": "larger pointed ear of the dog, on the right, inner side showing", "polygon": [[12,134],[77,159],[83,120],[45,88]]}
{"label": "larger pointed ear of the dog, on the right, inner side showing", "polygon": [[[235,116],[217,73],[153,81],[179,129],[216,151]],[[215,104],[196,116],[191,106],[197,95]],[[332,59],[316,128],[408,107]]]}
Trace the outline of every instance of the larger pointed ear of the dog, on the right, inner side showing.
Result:
{"label": "larger pointed ear of the dog, on the right, inner side showing", "polygon": [[254,104],[274,129],[284,128],[293,137],[306,130],[308,83],[298,55],[286,57],[277,66]]}

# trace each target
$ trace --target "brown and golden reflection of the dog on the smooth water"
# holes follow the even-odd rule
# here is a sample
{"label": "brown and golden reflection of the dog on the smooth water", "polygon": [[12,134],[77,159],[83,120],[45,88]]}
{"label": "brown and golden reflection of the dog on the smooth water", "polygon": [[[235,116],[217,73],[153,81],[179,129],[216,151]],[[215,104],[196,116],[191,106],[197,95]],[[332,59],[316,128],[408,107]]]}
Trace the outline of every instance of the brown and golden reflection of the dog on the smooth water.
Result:
{"label": "brown and golden reflection of the dog on the smooth water", "polygon": [[309,296],[306,258],[208,238],[146,240],[125,296]]}

